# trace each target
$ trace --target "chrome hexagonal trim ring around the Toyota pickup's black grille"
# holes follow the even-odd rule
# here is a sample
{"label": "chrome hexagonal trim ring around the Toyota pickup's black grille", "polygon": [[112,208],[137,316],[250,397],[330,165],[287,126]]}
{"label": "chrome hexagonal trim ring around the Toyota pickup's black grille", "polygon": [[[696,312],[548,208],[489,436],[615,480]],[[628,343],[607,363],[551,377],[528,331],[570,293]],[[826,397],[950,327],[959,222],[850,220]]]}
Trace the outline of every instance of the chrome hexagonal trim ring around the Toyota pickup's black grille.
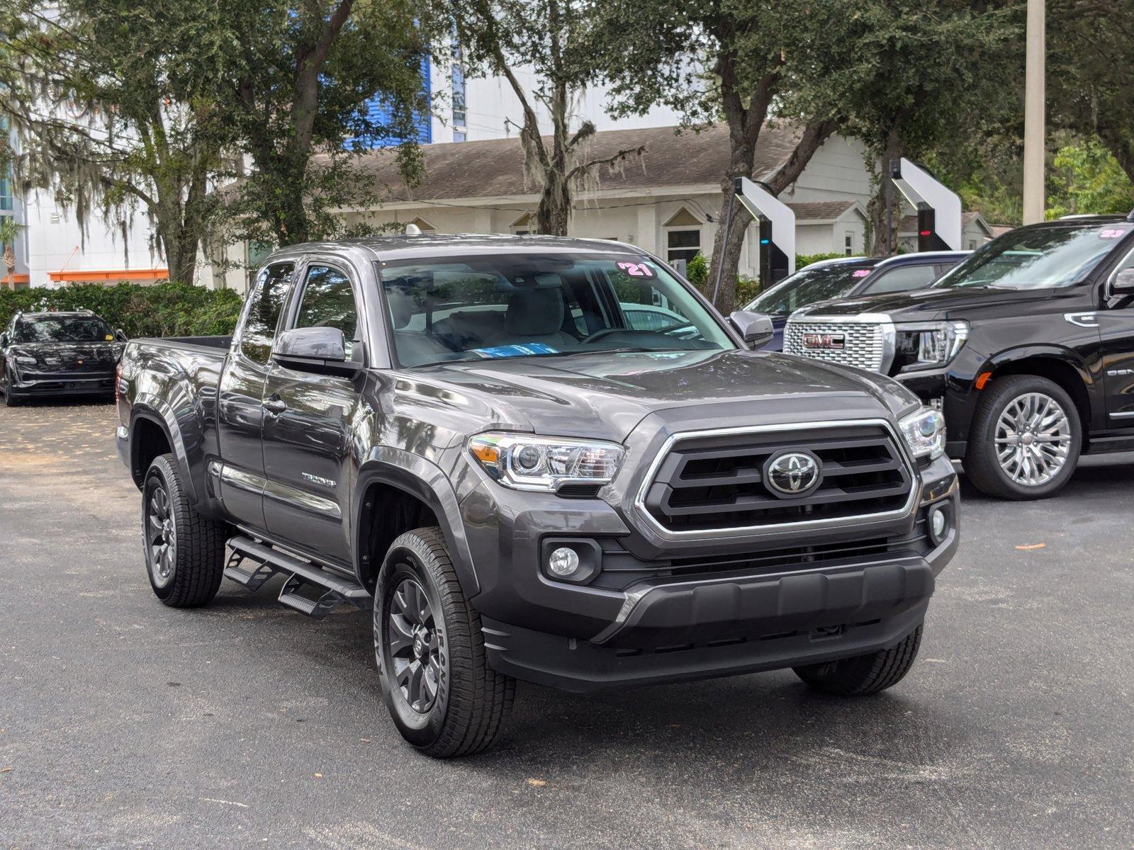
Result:
{"label": "chrome hexagonal trim ring around the Toyota pickup's black grille", "polygon": [[[769,433],[785,434],[792,431],[803,431],[803,430],[815,430],[815,428],[847,428],[862,425],[874,425],[881,426],[892,441],[892,445],[896,450],[896,454],[900,458],[904,473],[909,481],[909,492],[904,502],[904,504],[894,510],[879,511],[875,513],[856,513],[853,516],[835,517],[835,518],[823,518],[823,519],[812,519],[812,520],[794,520],[788,522],[769,522],[763,525],[748,525],[738,526],[729,528],[711,528],[711,529],[693,529],[693,530],[672,530],[667,528],[661,521],[653,516],[650,509],[646,507],[646,498],[650,493],[651,487],[657,483],[658,473],[669,457],[670,450],[675,444],[683,440],[701,440],[704,437],[714,436],[738,436],[738,435],[765,435]],[[806,444],[802,444],[801,448],[806,448]],[[642,486],[638,488],[637,495],[634,499],[634,507],[638,517],[642,518],[644,522],[650,526],[650,529],[657,534],[662,539],[680,541],[691,538],[712,538],[712,537],[736,537],[736,536],[750,536],[750,535],[768,535],[768,534],[782,534],[790,532],[802,532],[814,528],[839,528],[846,526],[857,526],[871,522],[883,522],[894,519],[900,519],[903,517],[909,516],[917,503],[917,494],[921,487],[921,476],[916,469],[913,458],[909,454],[909,447],[905,441],[905,437],[900,435],[898,430],[888,419],[843,419],[838,422],[797,422],[797,423],[784,423],[777,425],[758,425],[758,426],[738,426],[730,428],[710,428],[705,431],[680,431],[671,434],[666,443],[661,447],[653,462],[650,465],[645,477],[642,479]]]}

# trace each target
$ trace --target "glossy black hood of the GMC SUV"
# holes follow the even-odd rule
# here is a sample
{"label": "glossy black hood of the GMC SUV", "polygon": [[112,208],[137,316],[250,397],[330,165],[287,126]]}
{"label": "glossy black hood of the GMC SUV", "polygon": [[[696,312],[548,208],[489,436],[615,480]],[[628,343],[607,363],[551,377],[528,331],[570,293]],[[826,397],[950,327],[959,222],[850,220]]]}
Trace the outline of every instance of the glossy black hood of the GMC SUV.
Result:
{"label": "glossy black hood of the GMC SUV", "polygon": [[[1005,305],[1050,298],[1050,289],[988,289],[981,287],[956,289],[922,289],[913,292],[880,295],[818,301],[797,309],[793,320],[807,316],[857,316],[886,314],[895,321],[922,322],[941,318],[968,318],[983,311],[997,312]],[[979,315],[978,315],[979,317]]]}

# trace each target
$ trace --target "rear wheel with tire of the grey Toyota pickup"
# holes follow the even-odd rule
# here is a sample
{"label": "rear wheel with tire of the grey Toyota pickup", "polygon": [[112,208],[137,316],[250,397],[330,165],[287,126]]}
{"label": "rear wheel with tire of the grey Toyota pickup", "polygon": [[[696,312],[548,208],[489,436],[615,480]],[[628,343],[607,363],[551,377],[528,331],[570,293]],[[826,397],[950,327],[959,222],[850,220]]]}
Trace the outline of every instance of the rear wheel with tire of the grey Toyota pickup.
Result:
{"label": "rear wheel with tire of the grey Toyota pickup", "polygon": [[225,575],[225,524],[189,504],[172,454],[154,458],[142,485],[142,549],[150,586],[170,607],[196,607],[217,595]]}

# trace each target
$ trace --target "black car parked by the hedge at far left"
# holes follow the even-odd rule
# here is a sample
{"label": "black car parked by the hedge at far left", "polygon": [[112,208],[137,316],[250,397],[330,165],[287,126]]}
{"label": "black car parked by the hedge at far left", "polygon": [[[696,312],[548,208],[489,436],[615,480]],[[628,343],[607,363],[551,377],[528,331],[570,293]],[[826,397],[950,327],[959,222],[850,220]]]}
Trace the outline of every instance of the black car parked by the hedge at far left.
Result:
{"label": "black car parked by the hedge at far left", "polygon": [[8,407],[45,396],[112,396],[126,335],[90,311],[17,313],[0,333]]}

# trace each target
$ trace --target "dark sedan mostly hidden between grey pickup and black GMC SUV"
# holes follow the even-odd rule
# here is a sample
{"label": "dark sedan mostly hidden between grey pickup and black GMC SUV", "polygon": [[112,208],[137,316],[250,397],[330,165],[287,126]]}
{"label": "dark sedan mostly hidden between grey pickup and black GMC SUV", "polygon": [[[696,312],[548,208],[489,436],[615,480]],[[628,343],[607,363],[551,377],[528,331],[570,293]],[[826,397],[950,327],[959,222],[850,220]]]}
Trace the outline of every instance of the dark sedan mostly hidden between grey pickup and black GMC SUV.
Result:
{"label": "dark sedan mostly hidden between grey pickup and black GMC SUV", "polygon": [[925,289],[968,254],[934,250],[892,257],[820,260],[761,292],[744,309],[771,316],[776,334],[764,349],[779,351],[784,348],[784,325],[794,311],[831,298]]}

